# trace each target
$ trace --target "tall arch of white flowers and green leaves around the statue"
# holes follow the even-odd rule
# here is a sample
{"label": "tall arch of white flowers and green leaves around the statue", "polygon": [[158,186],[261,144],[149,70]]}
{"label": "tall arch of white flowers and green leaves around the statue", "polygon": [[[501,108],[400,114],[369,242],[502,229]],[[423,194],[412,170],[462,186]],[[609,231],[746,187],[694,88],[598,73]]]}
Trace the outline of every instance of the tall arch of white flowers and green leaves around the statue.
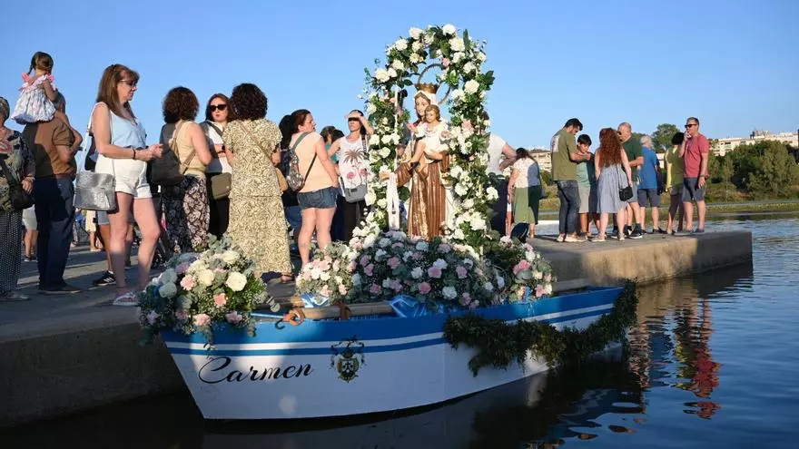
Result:
{"label": "tall arch of white flowers and green leaves around the statue", "polygon": [[[458,210],[453,227],[446,237],[452,243],[482,248],[488,229],[490,202],[498,199],[498,191],[488,180],[488,133],[483,103],[494,83],[492,71],[483,72],[486,61],[485,41],[469,38],[452,24],[429,26],[427,30],[411,28],[409,37],[401,37],[386,49],[386,63],[373,73],[368,69],[366,111],[375,133],[370,138],[370,167],[372,176],[367,203],[373,210],[364,221],[369,232],[386,229],[388,225],[387,181],[380,181],[381,172],[394,171],[397,148],[406,134],[409,112],[397,112],[396,93],[412,85],[412,74],[419,66],[433,60],[443,70],[438,82],[448,86],[449,107],[449,181],[455,193]],[[380,63],[375,60],[375,63]],[[400,192],[407,198],[408,191]]]}

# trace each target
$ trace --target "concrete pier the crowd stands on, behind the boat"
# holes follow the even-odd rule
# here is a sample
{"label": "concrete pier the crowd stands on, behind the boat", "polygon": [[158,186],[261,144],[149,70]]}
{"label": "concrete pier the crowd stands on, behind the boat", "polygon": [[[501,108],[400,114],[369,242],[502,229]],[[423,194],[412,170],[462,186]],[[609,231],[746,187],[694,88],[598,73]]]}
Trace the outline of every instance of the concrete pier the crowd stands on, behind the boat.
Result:
{"label": "concrete pier the crowd stands on, behind the boat", "polygon": [[[752,259],[746,231],[604,243],[557,243],[545,236],[532,244],[564,284],[649,283]],[[74,250],[65,278],[89,288],[104,269],[102,253]],[[35,289],[35,263],[24,263],[23,270],[22,292],[32,300],[0,304],[0,426],[185,388],[161,343],[138,345],[136,309],[111,307],[113,288],[47,297]],[[279,298],[292,291],[270,286]]]}

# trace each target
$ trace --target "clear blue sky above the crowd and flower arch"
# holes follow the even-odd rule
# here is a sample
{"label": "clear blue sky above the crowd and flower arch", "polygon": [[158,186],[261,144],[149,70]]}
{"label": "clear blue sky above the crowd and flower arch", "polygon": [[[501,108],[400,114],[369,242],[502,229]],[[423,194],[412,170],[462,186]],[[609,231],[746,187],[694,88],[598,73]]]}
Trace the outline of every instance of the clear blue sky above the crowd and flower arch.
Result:
{"label": "clear blue sky above the crowd and flower arch", "polygon": [[237,83],[257,83],[271,120],[307,108],[320,128],[346,129],[346,112],[363,106],[363,68],[373,68],[385,45],[411,26],[448,23],[488,40],[485,67],[497,77],[488,112],[493,131],[513,146],[546,144],[572,116],[594,137],[622,121],[652,132],[689,115],[710,137],[799,127],[792,0],[39,0],[5,2],[3,21],[0,95],[12,105],[20,73],[45,51],[83,132],[104,67],[124,63],[141,74],[133,109],[152,142],[163,95],[176,85],[204,104]]}

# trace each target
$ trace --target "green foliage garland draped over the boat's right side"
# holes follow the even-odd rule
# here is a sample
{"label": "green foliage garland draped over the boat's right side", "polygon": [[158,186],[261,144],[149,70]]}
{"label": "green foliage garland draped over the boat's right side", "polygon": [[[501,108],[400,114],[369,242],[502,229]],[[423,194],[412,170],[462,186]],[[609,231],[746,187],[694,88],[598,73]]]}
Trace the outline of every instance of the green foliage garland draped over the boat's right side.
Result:
{"label": "green foliage garland draped over the boat's right side", "polygon": [[456,349],[463,344],[478,349],[469,360],[474,376],[483,366],[507,369],[522,364],[527,352],[544,358],[550,366],[565,365],[601,351],[608,343],[626,340],[626,329],[636,322],[636,284],[627,282],[613,311],[599,317],[583,330],[557,330],[548,323],[518,320],[508,325],[499,319],[474,314],[449,317],[444,323],[444,338]]}

